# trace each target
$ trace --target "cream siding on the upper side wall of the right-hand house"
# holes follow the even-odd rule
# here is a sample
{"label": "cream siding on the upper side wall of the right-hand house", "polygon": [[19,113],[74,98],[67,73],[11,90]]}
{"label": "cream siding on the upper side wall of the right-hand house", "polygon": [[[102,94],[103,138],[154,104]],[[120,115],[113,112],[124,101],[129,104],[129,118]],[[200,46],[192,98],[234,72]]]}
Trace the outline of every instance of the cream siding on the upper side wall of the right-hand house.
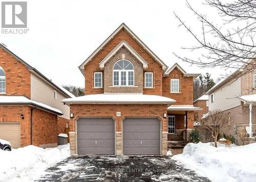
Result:
{"label": "cream siding on the upper side wall of the right-hand house", "polygon": [[209,110],[227,110],[241,104],[237,98],[241,96],[241,78],[231,80],[218,88],[214,93],[214,102],[211,103],[211,94],[209,94]]}

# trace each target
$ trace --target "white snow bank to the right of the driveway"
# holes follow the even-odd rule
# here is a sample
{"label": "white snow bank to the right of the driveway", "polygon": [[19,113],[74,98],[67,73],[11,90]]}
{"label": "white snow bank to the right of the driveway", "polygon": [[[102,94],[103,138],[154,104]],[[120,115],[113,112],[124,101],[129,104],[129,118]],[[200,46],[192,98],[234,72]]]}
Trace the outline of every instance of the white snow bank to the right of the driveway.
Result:
{"label": "white snow bank to the right of the driveway", "polygon": [[255,151],[256,143],[218,148],[210,143],[189,143],[172,159],[213,182],[256,181]]}

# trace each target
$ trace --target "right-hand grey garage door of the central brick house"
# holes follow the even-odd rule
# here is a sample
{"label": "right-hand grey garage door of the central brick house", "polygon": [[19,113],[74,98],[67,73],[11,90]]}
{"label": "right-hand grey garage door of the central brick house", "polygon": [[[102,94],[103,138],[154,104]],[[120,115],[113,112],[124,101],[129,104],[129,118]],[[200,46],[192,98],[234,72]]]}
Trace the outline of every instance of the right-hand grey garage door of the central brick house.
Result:
{"label": "right-hand grey garage door of the central brick house", "polygon": [[155,118],[125,119],[123,154],[160,154],[160,121]]}

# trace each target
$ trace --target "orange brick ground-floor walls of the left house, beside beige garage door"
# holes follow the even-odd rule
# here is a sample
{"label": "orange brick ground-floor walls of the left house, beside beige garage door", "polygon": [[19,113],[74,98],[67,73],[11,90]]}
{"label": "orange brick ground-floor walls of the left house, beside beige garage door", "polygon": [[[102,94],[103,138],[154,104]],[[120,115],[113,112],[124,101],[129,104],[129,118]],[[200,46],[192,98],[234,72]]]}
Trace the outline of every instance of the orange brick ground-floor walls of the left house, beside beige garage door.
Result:
{"label": "orange brick ground-floor walls of the left house, beside beige garage door", "polygon": [[[1,122],[20,123],[20,145],[31,144],[31,108],[30,106],[0,106]],[[24,119],[20,118],[24,116]],[[57,145],[57,116],[39,109],[33,110],[33,145]]]}

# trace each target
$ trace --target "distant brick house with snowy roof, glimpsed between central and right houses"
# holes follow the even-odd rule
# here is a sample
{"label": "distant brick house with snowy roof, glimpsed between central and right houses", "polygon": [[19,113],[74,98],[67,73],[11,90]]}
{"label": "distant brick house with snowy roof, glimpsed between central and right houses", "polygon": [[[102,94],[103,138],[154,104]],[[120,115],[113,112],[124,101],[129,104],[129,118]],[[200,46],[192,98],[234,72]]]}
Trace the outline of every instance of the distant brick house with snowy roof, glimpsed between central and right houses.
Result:
{"label": "distant brick house with snowy roof, glimpsed between central and right houses", "polygon": [[202,108],[201,110],[194,111],[194,121],[200,122],[202,117],[209,111],[209,96],[203,95],[193,102],[195,107]]}

